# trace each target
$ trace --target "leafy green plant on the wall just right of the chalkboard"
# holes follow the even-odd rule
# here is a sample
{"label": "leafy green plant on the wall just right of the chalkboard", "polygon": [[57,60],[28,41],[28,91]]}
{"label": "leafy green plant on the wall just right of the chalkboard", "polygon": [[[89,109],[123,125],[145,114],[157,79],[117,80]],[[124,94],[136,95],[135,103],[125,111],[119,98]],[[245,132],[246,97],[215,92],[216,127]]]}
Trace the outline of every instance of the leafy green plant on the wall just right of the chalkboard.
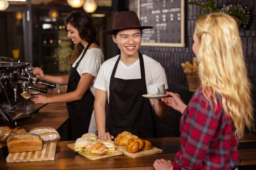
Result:
{"label": "leafy green plant on the wall just right of the chalkboard", "polygon": [[200,14],[201,10],[204,10],[204,14],[209,14],[211,12],[219,12],[220,9],[217,7],[217,4],[212,0],[207,0],[205,3],[196,3],[196,2],[189,2],[188,4],[198,6],[200,9],[196,12],[195,16],[200,18],[202,15]]}

